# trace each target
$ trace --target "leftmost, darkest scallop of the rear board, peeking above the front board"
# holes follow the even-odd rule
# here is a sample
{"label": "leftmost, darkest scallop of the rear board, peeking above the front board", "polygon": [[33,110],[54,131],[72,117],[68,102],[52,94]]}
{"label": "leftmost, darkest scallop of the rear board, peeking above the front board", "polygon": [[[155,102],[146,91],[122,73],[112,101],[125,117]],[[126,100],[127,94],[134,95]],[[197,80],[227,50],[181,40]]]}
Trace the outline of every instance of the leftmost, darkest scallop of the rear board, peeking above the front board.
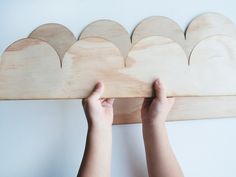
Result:
{"label": "leftmost, darkest scallop of the rear board, peeking above the front board", "polygon": [[76,42],[74,34],[68,28],[56,23],[39,26],[29,37],[48,42],[57,51],[61,61],[65,52]]}

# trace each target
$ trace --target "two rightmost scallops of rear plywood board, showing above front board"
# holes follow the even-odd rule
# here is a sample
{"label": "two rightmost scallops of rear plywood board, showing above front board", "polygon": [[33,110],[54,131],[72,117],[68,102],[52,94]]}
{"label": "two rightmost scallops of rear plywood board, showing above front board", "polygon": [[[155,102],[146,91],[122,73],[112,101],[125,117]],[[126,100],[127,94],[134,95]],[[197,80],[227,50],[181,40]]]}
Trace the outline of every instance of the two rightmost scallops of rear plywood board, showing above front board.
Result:
{"label": "two rightmost scallops of rear plywood board, showing above front board", "polygon": [[146,37],[165,36],[179,43],[189,57],[197,43],[214,35],[226,35],[236,39],[236,27],[230,19],[221,14],[205,13],[194,18],[184,34],[173,20],[163,16],[153,16],[144,19],[136,26],[132,42],[134,45]]}

